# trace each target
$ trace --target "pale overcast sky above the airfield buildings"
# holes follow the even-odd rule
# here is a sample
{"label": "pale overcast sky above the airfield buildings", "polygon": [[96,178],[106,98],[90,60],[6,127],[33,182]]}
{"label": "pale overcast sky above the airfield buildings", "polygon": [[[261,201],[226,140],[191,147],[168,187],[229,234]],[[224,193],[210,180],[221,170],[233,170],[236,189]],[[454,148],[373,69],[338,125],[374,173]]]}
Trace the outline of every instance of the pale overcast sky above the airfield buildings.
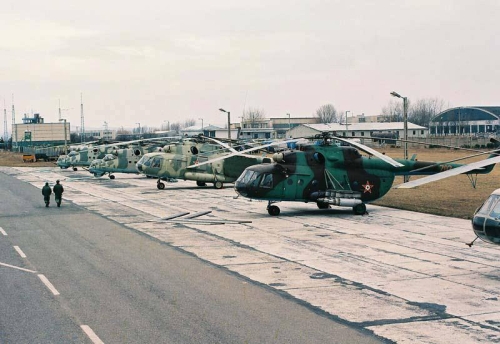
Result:
{"label": "pale overcast sky above the airfield buildings", "polygon": [[[500,105],[498,0],[4,0],[0,107],[85,128]],[[3,111],[2,111],[3,115]],[[4,116],[0,128],[3,135]]]}

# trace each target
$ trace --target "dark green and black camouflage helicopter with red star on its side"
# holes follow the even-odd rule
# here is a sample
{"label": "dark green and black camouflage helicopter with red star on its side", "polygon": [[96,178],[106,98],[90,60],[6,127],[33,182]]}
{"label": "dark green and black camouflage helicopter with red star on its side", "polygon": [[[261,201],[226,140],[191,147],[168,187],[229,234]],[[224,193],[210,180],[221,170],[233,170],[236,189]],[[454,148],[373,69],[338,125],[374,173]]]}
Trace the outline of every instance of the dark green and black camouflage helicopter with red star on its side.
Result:
{"label": "dark green and black camouflage helicopter with red star on its side", "polygon": [[[280,201],[314,202],[320,209],[332,205],[352,207],[354,214],[363,215],[367,203],[391,189],[395,176],[429,175],[464,166],[421,162],[415,157],[392,159],[334,133],[322,133],[317,138],[321,140],[274,154],[273,163],[246,168],[235,182],[235,191],[246,198],[267,200],[267,211],[272,216],[280,214],[280,208],[274,205]],[[358,149],[370,156],[362,156]],[[499,157],[483,160],[482,165],[475,165],[467,173],[489,173],[499,161]]]}

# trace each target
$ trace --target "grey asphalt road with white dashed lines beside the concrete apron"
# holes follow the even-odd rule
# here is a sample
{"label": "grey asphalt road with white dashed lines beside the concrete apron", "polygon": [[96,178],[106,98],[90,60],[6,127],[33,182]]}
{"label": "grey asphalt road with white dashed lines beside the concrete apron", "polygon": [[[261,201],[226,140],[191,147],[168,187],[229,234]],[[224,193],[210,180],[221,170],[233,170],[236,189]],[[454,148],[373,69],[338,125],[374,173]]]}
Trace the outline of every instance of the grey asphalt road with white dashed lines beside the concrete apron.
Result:
{"label": "grey asphalt road with white dashed lines beside the concrete apron", "polygon": [[0,343],[378,343],[0,173]]}

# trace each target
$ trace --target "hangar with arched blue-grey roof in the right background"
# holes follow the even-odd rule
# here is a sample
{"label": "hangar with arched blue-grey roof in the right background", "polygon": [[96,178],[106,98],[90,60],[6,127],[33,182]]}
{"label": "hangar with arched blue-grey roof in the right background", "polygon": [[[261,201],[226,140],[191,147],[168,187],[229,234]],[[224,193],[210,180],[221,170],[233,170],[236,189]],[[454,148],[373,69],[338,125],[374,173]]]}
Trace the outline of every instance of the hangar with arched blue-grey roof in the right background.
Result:
{"label": "hangar with arched blue-grey roof in the right background", "polygon": [[500,132],[499,106],[464,106],[445,110],[434,117],[431,135],[479,135]]}

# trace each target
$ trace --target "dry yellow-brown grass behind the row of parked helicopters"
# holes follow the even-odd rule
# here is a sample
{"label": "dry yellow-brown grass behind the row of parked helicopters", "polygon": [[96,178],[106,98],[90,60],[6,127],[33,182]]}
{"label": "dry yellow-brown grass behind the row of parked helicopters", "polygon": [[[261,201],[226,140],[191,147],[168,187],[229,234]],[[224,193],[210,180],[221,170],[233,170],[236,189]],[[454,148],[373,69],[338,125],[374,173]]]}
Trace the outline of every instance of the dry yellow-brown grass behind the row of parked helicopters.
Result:
{"label": "dry yellow-brown grass behind the row of parked helicopters", "polygon": [[[403,157],[402,148],[386,148],[380,151],[385,152],[393,158]],[[410,148],[409,156],[411,157],[414,153],[417,154],[417,159],[420,161],[441,162],[471,154],[470,152],[452,149]],[[468,159],[460,163],[470,163],[480,159],[482,158]],[[54,167],[54,162],[37,161],[34,163],[25,163],[23,162],[21,153],[0,151],[0,166]],[[490,174],[479,175],[478,184],[475,189],[466,175],[450,177],[420,186],[416,189],[391,189],[387,195],[374,202],[374,204],[422,213],[470,219],[474,210],[482,204],[489,194],[493,190],[500,188],[500,183],[498,182],[500,180],[499,176],[499,167],[493,169],[493,172]],[[402,177],[397,177],[394,185],[400,184],[402,181]]]}

